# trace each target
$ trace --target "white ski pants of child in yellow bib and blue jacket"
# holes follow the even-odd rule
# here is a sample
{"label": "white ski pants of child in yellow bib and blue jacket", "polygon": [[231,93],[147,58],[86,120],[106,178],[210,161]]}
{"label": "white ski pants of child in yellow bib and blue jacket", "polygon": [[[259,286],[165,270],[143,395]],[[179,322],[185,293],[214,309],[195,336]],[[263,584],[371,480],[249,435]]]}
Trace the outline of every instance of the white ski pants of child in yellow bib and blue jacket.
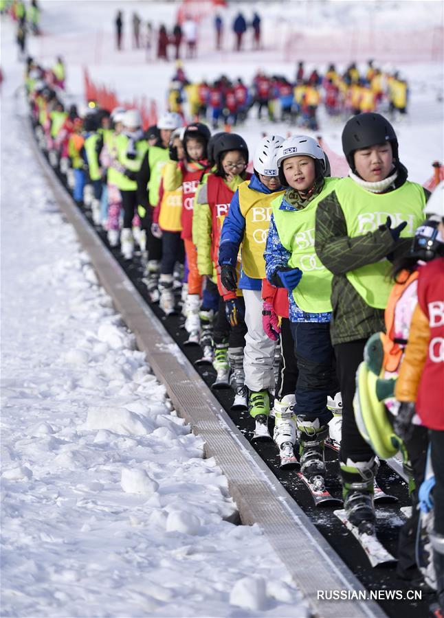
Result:
{"label": "white ski pants of child in yellow bib and blue jacket", "polygon": [[261,391],[274,387],[274,348],[262,327],[262,297],[260,291],[242,290],[245,301],[245,349],[243,369],[245,385],[250,391]]}

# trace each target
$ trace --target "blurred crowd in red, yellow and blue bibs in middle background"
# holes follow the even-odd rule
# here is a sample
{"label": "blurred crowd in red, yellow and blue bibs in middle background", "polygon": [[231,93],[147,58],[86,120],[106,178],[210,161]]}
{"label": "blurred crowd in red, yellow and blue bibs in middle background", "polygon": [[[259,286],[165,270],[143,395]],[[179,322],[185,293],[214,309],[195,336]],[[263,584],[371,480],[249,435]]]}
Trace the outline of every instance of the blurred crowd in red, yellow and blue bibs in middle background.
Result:
{"label": "blurred crowd in red, yellow and blue bibs in middle background", "polygon": [[251,84],[225,75],[212,82],[190,82],[179,63],[168,90],[170,111],[206,120],[213,128],[236,126],[256,109],[258,119],[265,115],[269,122],[318,130],[320,107],[338,120],[372,111],[403,117],[408,83],[399,71],[381,69],[373,60],[363,72],[353,62],[344,71],[331,64],[323,74],[318,69],[307,71],[301,61],[294,80],[258,71]]}

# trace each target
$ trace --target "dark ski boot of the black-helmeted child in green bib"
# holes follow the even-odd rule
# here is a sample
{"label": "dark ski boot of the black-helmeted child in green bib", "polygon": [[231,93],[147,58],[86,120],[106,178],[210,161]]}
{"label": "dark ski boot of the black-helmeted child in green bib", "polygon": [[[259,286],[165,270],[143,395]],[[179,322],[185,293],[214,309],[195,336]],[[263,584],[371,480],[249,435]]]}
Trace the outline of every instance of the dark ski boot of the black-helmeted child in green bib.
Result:
{"label": "dark ski boot of the black-helmeted child in green bib", "polygon": [[347,459],[345,464],[340,462],[346,516],[360,534],[375,532],[376,515],[373,497],[378,467],[375,457],[370,461]]}

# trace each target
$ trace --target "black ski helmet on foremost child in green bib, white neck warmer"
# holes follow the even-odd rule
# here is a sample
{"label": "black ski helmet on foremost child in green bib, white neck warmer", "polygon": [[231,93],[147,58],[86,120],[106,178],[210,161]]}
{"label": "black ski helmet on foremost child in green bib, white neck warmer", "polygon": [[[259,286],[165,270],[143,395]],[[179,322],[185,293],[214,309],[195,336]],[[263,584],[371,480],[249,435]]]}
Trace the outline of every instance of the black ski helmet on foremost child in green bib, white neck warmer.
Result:
{"label": "black ski helmet on foremost child in green bib, white neck warmer", "polygon": [[390,141],[393,159],[398,160],[398,139],[395,129],[381,114],[366,112],[348,120],[342,131],[342,150],[351,170],[355,170],[353,155],[358,148],[369,148]]}

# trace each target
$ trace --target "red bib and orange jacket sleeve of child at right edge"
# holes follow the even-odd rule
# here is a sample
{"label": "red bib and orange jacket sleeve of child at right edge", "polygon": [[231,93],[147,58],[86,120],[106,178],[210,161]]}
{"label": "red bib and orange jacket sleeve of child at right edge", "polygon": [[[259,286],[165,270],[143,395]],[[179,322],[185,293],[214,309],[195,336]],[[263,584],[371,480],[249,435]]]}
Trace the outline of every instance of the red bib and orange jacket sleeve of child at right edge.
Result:
{"label": "red bib and orange jacket sleeve of child at right edge", "polygon": [[444,431],[444,258],[419,271],[418,305],[395,396],[403,402],[416,401],[421,422]]}

